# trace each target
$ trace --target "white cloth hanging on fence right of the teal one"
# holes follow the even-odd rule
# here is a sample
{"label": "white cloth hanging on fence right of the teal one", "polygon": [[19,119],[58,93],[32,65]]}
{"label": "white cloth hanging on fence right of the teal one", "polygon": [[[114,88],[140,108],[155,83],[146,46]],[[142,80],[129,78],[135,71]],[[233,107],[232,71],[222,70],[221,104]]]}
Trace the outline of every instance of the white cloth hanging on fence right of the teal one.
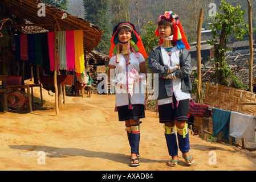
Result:
{"label": "white cloth hanging on fence right of the teal one", "polygon": [[255,121],[253,115],[231,111],[229,133],[232,137],[246,142],[255,142]]}

